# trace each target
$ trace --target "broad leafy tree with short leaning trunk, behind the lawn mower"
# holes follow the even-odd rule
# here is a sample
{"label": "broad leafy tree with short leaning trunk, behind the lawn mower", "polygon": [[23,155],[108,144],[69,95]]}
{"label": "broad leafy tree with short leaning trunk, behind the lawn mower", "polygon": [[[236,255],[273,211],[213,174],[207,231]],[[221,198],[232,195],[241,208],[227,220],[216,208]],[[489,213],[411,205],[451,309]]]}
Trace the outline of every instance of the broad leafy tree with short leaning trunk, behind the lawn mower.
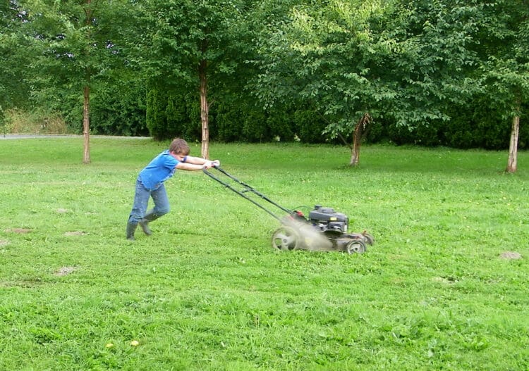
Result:
{"label": "broad leafy tree with short leaning trunk, behind the lawn mower", "polygon": [[[263,42],[258,87],[273,92],[261,93],[272,103],[292,95],[310,101],[332,137],[351,134],[366,114],[410,129],[449,120],[446,107],[473,89],[466,73],[476,61],[467,47],[475,12],[458,0],[294,6]],[[351,165],[356,159],[353,151]]]}

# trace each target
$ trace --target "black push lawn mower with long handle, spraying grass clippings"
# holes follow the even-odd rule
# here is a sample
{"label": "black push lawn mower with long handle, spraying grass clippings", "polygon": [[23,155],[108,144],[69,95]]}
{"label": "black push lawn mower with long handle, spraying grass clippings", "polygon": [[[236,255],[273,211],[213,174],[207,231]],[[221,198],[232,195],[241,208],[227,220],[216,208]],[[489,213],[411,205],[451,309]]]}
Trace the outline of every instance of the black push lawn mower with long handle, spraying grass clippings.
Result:
{"label": "black push lawn mower with long handle, spraying grass clippings", "polygon": [[[226,182],[208,170],[203,171],[224,187],[247,199],[258,208],[265,210],[281,223],[281,227],[272,234],[272,248],[274,249],[346,251],[351,254],[363,253],[366,250],[366,245],[374,243],[372,235],[365,231],[362,233],[348,232],[349,218],[343,213],[336,213],[333,208],[316,205],[310,210],[308,217],[305,217],[300,210],[284,208],[219,166],[214,166],[214,169],[229,177],[230,180]],[[265,201],[282,210],[286,215],[280,218],[272,210],[265,207]]]}

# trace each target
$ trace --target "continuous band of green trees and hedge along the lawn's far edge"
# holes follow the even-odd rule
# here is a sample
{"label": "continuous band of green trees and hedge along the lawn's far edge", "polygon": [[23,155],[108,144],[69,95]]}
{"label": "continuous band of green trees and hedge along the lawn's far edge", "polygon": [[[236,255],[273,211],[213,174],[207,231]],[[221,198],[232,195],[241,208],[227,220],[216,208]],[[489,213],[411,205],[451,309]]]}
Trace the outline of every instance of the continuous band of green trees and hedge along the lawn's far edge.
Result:
{"label": "continuous band of green trees and hedge along the lawn's far edge", "polygon": [[89,87],[92,134],[200,141],[205,84],[212,140],[350,141],[370,113],[369,142],[505,149],[528,108],[527,1],[8,0],[0,11],[4,130],[23,111],[83,132]]}

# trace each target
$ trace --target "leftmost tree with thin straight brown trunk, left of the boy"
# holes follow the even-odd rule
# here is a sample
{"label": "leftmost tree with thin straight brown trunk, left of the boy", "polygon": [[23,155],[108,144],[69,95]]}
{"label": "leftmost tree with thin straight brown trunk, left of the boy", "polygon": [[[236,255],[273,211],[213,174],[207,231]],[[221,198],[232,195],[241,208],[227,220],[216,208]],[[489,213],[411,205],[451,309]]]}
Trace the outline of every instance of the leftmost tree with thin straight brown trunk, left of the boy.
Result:
{"label": "leftmost tree with thin straight brown trunk, left of the boy", "polygon": [[25,33],[32,41],[32,83],[47,100],[65,90],[82,92],[83,163],[90,163],[90,94],[119,65],[112,41],[121,30],[116,14],[123,1],[20,0],[28,12]]}

